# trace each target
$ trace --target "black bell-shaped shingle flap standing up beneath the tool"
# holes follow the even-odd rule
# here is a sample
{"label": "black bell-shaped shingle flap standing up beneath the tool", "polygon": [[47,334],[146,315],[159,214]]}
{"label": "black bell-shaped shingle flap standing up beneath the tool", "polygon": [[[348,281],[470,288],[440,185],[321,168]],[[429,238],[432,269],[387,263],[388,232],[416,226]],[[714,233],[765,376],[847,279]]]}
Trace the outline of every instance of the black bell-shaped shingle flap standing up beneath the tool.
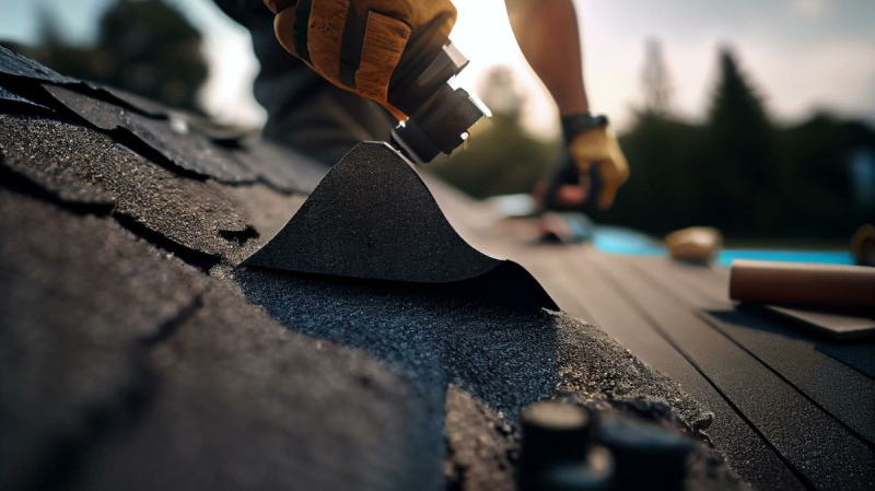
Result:
{"label": "black bell-shaped shingle flap standing up beneath the tool", "polygon": [[[453,230],[416,171],[385,143],[350,151],[285,227],[246,260],[277,270],[423,283],[469,280],[502,262]],[[555,308],[552,301],[544,306]]]}

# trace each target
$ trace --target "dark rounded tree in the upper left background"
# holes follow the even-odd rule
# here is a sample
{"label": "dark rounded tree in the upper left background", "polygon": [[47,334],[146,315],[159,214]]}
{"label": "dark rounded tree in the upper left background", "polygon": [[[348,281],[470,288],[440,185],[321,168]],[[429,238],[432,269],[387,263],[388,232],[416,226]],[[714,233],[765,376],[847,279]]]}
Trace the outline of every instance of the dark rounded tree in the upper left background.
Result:
{"label": "dark rounded tree in the upper left background", "polygon": [[198,109],[207,79],[201,35],[164,0],[117,0],[100,20],[94,46],[74,46],[50,11],[40,15],[40,45],[27,54],[55,70]]}

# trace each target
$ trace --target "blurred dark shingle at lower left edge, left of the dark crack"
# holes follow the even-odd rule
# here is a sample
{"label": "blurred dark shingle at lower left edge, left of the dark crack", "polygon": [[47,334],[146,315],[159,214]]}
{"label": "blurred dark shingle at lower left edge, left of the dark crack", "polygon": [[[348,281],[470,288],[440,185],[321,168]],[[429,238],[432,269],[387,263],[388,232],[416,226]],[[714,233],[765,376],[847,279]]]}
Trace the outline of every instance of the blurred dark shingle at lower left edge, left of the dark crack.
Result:
{"label": "blurred dark shingle at lower left edge, left of the dark crack", "polygon": [[206,278],[162,267],[109,221],[4,190],[0,209],[0,488],[22,489],[129,417],[147,382],[131,346],[172,323]]}

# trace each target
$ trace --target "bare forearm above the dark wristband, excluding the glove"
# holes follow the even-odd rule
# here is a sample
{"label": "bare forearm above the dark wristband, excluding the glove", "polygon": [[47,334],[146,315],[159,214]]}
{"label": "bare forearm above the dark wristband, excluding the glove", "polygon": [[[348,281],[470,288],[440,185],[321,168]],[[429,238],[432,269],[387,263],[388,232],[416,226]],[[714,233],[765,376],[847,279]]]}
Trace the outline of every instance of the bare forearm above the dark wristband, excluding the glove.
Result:
{"label": "bare forearm above the dark wristband, excluding the glove", "polygon": [[505,0],[516,43],[562,116],[587,113],[578,16],[571,0]]}

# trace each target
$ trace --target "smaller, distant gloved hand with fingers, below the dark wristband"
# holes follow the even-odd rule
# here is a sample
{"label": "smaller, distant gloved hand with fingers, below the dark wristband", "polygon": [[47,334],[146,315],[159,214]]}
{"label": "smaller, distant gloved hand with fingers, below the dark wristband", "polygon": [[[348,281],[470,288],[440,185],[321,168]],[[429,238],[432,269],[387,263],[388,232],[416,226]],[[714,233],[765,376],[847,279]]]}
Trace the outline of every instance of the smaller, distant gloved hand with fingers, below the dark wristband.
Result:
{"label": "smaller, distant gloved hand with fingers, below the dark wristband", "polygon": [[629,164],[605,116],[562,118],[569,159],[553,175],[545,208],[607,210],[629,178]]}

